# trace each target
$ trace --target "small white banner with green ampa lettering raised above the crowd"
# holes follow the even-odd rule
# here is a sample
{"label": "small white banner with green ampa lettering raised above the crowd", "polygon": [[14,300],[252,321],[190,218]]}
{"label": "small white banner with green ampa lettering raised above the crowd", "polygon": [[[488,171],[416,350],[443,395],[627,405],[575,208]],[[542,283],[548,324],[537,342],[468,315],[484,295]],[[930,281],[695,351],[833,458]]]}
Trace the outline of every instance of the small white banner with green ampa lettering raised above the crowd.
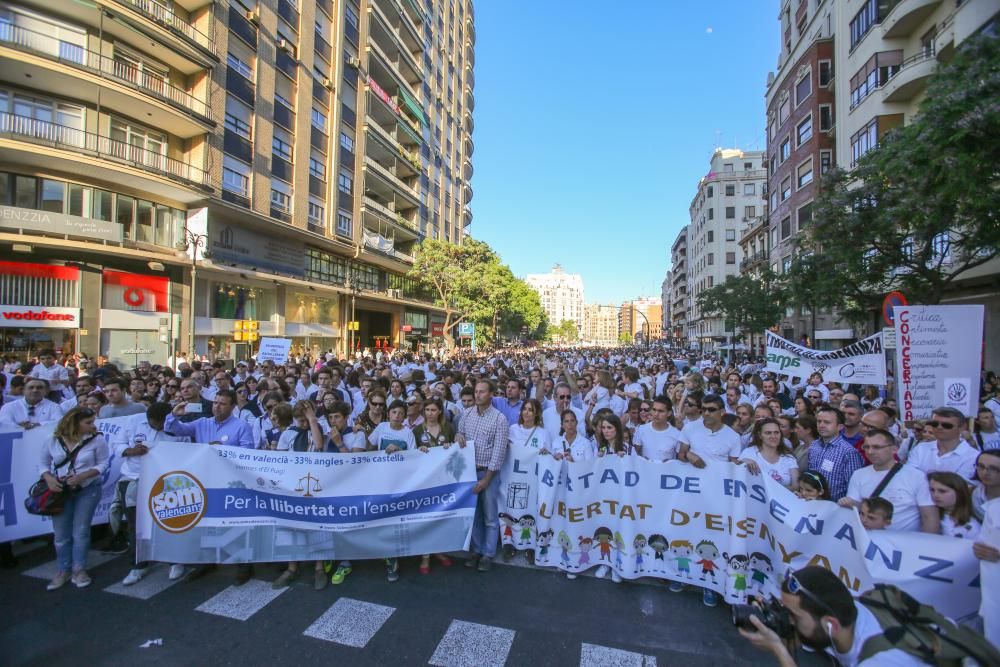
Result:
{"label": "small white banner with green ampa lettering raised above the crowd", "polygon": [[882,332],[838,350],[813,350],[765,331],[765,370],[808,378],[820,373],[824,382],[885,385],[885,347]]}

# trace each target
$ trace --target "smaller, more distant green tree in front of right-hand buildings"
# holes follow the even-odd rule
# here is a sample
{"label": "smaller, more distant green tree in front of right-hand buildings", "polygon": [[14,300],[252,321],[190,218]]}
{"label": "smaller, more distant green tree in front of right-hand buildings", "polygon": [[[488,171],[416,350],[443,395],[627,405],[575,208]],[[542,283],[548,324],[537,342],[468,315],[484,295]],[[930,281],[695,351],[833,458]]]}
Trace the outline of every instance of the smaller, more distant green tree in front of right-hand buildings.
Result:
{"label": "smaller, more distant green tree in front of right-hand buildings", "polygon": [[722,317],[727,329],[749,336],[777,324],[782,314],[781,301],[780,288],[770,270],[759,277],[729,276],[724,283],[698,295],[702,313]]}

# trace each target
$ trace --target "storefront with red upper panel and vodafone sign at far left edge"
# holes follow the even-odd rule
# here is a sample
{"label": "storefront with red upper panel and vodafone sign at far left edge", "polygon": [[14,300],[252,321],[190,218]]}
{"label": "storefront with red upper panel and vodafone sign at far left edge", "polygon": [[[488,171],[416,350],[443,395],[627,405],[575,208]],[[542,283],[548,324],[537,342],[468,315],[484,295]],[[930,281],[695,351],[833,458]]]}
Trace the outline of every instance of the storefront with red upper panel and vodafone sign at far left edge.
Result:
{"label": "storefront with red upper panel and vodafone sign at far left edge", "polygon": [[74,354],[79,334],[80,269],[0,261],[0,353]]}

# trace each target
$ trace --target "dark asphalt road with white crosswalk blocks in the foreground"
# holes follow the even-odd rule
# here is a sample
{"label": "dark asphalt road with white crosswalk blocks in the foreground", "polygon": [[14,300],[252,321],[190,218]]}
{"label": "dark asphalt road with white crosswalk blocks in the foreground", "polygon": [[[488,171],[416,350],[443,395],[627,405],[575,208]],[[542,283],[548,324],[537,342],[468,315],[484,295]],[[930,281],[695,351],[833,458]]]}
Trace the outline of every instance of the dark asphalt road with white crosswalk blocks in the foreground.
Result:
{"label": "dark asphalt road with white crosswalk blocks in the foreground", "polygon": [[709,609],[696,591],[569,581],[523,563],[488,573],[435,563],[422,576],[405,559],[389,583],[366,561],[317,592],[309,568],[272,591],[272,564],[242,587],[235,568],[169,582],[158,565],[124,588],[129,562],[118,556],[91,565],[91,587],[47,592],[53,558],[37,546],[0,572],[4,665],[774,664],[736,633],[728,607]]}

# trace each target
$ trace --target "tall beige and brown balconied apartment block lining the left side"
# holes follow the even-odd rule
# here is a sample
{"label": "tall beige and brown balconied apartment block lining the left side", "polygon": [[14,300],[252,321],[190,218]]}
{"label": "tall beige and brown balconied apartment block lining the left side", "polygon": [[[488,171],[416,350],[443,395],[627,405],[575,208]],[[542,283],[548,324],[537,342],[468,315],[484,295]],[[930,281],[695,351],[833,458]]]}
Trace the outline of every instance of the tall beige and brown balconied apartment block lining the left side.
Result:
{"label": "tall beige and brown balconied apartment block lining the left side", "polygon": [[406,273],[420,239],[471,222],[471,2],[0,16],[0,307],[70,311],[5,328],[3,352],[235,359],[241,320],[345,352],[443,322]]}

